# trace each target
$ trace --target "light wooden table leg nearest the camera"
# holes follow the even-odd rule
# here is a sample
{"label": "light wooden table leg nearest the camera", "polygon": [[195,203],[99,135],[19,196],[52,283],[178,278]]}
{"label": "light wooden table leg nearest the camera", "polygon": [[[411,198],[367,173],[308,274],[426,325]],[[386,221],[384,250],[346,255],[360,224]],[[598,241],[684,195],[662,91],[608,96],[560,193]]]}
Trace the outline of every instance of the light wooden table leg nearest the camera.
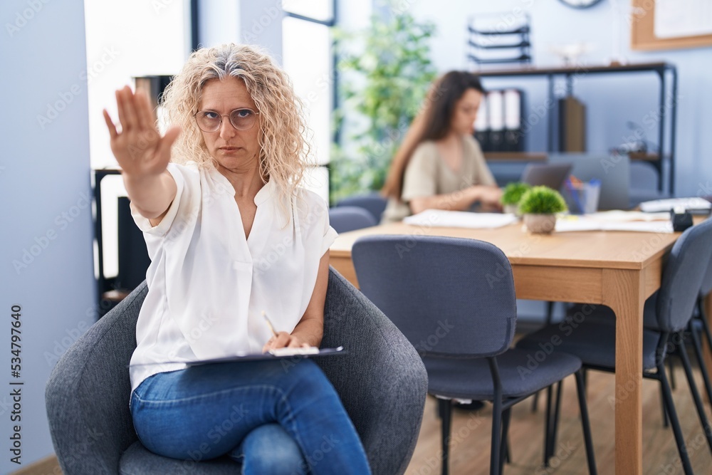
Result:
{"label": "light wooden table leg nearest the camera", "polygon": [[604,270],[604,304],[616,314],[616,473],[642,475],[643,271]]}

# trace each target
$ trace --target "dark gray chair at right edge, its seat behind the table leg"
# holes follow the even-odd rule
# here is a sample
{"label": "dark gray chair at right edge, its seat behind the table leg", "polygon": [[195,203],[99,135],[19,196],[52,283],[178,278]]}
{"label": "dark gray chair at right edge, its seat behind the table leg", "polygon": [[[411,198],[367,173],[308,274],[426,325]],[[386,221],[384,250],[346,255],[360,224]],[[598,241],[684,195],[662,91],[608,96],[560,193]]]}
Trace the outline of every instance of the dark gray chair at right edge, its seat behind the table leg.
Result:
{"label": "dark gray chair at right edge, its seat behind the table leg", "polygon": [[[672,400],[665,372],[669,345],[682,346],[684,331],[689,328],[693,308],[699,296],[701,283],[712,259],[712,219],[687,229],[675,242],[663,271],[659,291],[653,294],[644,307],[643,377],[660,382],[665,412],[670,418],[675,442],[686,474],[692,474],[690,459],[685,447],[680,422]],[[579,319],[580,320],[580,319]],[[570,335],[564,335],[560,325],[545,328],[525,336],[517,343],[523,350],[538,349],[539,345],[560,339],[556,350],[581,358],[585,369],[615,372],[615,325],[612,318],[600,314],[586,316]],[[712,451],[712,428],[707,420],[686,350],[677,352],[689,382],[695,407],[703,426],[707,443]]]}

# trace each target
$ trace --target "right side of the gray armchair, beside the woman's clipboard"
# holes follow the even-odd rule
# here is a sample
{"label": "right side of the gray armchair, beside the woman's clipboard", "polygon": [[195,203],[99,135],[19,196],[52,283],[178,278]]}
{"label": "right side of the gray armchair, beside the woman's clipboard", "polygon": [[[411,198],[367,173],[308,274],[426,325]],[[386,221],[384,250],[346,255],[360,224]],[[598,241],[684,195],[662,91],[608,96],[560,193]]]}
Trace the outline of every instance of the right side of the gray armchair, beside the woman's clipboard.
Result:
{"label": "right side of the gray armchair, beside the woman's clipboard", "polygon": [[316,358],[339,393],[373,474],[402,474],[417,443],[428,377],[415,348],[333,268],[322,346],[347,355]]}

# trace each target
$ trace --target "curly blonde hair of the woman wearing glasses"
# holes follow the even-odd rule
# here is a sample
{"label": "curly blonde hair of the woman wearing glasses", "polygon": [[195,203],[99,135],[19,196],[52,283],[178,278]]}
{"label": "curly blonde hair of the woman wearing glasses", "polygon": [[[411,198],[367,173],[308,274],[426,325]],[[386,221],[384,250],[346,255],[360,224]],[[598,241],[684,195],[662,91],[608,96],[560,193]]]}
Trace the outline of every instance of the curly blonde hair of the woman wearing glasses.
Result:
{"label": "curly blonde hair of the woman wearing glasses", "polygon": [[[273,180],[282,198],[295,196],[304,176],[310,147],[301,101],[295,96],[286,73],[272,58],[254,46],[235,43],[194,51],[166,88],[162,105],[167,125],[182,133],[172,148],[172,161],[197,162],[215,167],[203,136],[193,118],[198,111],[203,86],[213,79],[240,78],[257,105],[260,123],[260,175]],[[280,200],[285,202],[284,199]]]}

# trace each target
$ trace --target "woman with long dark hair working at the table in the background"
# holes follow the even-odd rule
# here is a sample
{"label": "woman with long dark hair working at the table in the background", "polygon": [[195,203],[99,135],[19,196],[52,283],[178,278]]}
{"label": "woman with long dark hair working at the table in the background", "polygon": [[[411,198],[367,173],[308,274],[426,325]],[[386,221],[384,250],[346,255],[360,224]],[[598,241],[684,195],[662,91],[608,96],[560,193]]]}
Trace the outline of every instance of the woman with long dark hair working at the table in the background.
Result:
{"label": "woman with long dark hair working at the table in the background", "polygon": [[400,221],[425,209],[498,208],[496,186],[472,136],[484,90],[472,73],[439,78],[393,159],[382,192],[383,221]]}

